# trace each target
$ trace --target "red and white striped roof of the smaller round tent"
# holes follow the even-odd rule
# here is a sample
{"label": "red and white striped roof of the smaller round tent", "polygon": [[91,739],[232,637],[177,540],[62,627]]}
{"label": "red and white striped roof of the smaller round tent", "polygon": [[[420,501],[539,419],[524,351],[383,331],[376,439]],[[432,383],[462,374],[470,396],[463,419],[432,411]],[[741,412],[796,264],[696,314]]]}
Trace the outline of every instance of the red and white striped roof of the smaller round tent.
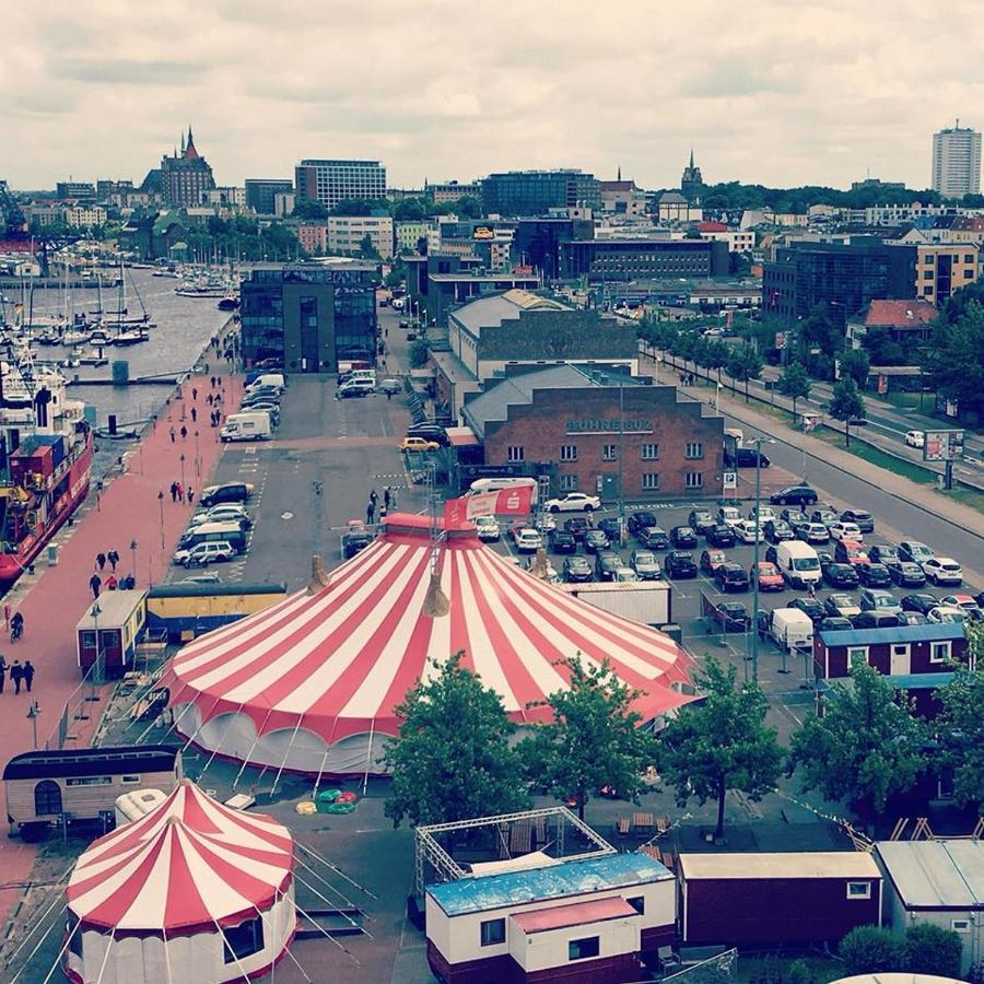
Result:
{"label": "red and white striped roof of the smaller round tent", "polygon": [[82,928],[191,935],[235,926],[291,889],[294,844],[183,780],[156,809],[99,837],[75,864],[68,909]]}

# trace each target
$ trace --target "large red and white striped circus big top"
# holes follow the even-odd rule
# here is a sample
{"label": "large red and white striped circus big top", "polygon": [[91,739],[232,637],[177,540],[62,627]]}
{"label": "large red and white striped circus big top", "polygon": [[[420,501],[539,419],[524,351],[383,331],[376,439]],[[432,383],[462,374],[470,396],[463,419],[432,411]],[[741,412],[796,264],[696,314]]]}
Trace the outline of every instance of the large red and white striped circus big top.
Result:
{"label": "large red and white striped circus big top", "polygon": [[559,659],[608,657],[643,691],[645,719],[687,703],[686,654],[667,635],[601,611],[518,569],[481,543],[471,524],[445,530],[441,591],[432,585],[425,516],[394,514],[365,550],[311,587],[210,632],[173,659],[177,729],[237,761],[305,773],[380,773],[394,708],[433,660],[464,665],[502,696],[518,723],[566,686]]}

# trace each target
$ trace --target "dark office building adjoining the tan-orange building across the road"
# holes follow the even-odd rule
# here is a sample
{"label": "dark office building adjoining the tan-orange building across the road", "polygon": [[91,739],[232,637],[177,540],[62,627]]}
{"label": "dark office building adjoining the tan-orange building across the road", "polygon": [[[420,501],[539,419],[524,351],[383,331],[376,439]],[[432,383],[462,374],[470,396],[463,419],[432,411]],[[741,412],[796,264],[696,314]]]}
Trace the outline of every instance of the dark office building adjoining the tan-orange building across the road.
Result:
{"label": "dark office building adjoining the tan-orange building across the road", "polygon": [[762,308],[796,320],[818,305],[845,326],[871,301],[905,300],[916,282],[916,249],[870,237],[845,244],[793,242],[765,263]]}

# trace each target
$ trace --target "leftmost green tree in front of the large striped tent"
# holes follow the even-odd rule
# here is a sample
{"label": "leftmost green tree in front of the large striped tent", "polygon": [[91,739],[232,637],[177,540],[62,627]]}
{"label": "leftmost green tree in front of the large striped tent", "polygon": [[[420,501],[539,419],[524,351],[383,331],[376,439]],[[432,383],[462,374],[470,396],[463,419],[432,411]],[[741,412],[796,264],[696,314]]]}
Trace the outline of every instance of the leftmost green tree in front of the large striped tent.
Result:
{"label": "leftmost green tree in front of the large striped tent", "polygon": [[396,708],[400,737],[383,755],[393,775],[385,812],[398,827],[449,823],[526,808],[515,725],[502,698],[461,666],[464,651],[434,660]]}

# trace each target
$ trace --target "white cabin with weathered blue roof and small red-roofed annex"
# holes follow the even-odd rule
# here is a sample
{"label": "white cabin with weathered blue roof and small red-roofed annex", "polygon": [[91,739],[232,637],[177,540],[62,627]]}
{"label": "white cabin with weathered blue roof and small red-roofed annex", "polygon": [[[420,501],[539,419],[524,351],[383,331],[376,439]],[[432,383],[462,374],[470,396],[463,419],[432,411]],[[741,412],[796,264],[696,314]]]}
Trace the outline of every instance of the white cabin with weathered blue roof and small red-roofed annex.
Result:
{"label": "white cabin with weathered blue roof and small red-roofed annex", "polygon": [[636,981],[640,954],[672,942],[676,881],[648,855],[509,864],[426,887],[427,962],[444,984]]}

